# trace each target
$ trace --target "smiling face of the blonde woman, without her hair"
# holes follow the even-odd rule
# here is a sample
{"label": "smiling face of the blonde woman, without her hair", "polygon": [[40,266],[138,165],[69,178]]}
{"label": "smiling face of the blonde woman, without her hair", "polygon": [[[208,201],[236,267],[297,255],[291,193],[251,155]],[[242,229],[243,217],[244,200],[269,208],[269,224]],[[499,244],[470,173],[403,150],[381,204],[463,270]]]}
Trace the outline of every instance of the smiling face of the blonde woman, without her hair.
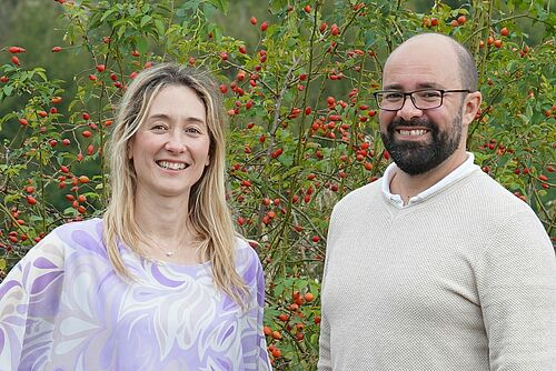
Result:
{"label": "smiling face of the blonde woman, without her hair", "polygon": [[186,197],[210,162],[205,104],[183,86],[162,88],[129,146],[137,195]]}

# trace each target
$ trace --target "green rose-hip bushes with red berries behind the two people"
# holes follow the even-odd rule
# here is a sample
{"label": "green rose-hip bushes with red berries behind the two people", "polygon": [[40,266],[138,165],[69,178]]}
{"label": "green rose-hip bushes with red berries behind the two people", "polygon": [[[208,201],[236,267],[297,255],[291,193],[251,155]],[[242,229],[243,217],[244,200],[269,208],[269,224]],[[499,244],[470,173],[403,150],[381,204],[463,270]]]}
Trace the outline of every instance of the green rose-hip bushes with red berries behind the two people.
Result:
{"label": "green rose-hip bushes with red berries behind the two people", "polygon": [[133,76],[205,68],[229,118],[229,203],[260,242],[272,362],[315,369],[331,208],[387,166],[371,92],[386,56],[429,31],[479,66],[468,150],[555,241],[549,1],[3,0],[0,17],[0,279],[57,225],[101,215],[102,149]]}

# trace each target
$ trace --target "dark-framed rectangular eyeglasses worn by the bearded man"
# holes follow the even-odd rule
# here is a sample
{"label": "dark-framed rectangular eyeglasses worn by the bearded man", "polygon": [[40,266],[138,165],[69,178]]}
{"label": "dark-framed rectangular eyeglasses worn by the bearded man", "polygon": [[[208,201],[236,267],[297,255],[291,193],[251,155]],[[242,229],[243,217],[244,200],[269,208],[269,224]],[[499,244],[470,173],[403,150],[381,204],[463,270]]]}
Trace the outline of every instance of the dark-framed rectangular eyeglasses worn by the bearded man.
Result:
{"label": "dark-framed rectangular eyeglasses worn by the bearded man", "polygon": [[470,90],[441,90],[441,89],[423,89],[410,92],[401,92],[396,90],[376,91],[373,94],[377,101],[378,108],[385,111],[398,111],[406,103],[406,98],[411,98],[411,102],[418,110],[430,110],[443,106],[444,94],[449,92],[466,92]]}

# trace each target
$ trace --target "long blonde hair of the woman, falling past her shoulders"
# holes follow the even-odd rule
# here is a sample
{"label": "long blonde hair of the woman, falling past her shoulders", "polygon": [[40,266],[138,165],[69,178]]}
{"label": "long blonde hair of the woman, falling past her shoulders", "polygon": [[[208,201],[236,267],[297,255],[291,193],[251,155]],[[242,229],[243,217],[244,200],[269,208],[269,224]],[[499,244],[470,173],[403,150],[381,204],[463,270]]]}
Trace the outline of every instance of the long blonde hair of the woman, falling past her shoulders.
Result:
{"label": "long blonde hair of the woman, falling past her shoulders", "polygon": [[245,282],[236,272],[237,234],[226,203],[225,190],[225,124],[218,87],[206,73],[176,63],[161,63],[140,72],[128,86],[121,100],[116,126],[109,142],[111,199],[105,212],[105,243],[117,273],[131,279],[118,250],[121,240],[131,250],[143,254],[139,245],[148,237],[135,219],[137,177],[128,159],[128,144],[145,121],[152,100],[167,86],[192,89],[203,102],[210,137],[209,158],[201,179],[191,187],[189,222],[200,238],[201,257],[212,265],[212,279],[218,289],[241,308],[248,302]]}

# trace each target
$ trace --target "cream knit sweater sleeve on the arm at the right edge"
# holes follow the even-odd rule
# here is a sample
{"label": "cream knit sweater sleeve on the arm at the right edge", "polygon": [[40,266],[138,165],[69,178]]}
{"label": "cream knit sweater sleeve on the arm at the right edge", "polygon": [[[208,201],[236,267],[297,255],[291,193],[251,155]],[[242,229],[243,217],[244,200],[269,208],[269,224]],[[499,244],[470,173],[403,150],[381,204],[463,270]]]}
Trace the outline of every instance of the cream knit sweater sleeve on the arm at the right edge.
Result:
{"label": "cream knit sweater sleeve on the arm at the right edge", "polygon": [[490,370],[554,370],[556,259],[536,215],[507,215],[477,274]]}

